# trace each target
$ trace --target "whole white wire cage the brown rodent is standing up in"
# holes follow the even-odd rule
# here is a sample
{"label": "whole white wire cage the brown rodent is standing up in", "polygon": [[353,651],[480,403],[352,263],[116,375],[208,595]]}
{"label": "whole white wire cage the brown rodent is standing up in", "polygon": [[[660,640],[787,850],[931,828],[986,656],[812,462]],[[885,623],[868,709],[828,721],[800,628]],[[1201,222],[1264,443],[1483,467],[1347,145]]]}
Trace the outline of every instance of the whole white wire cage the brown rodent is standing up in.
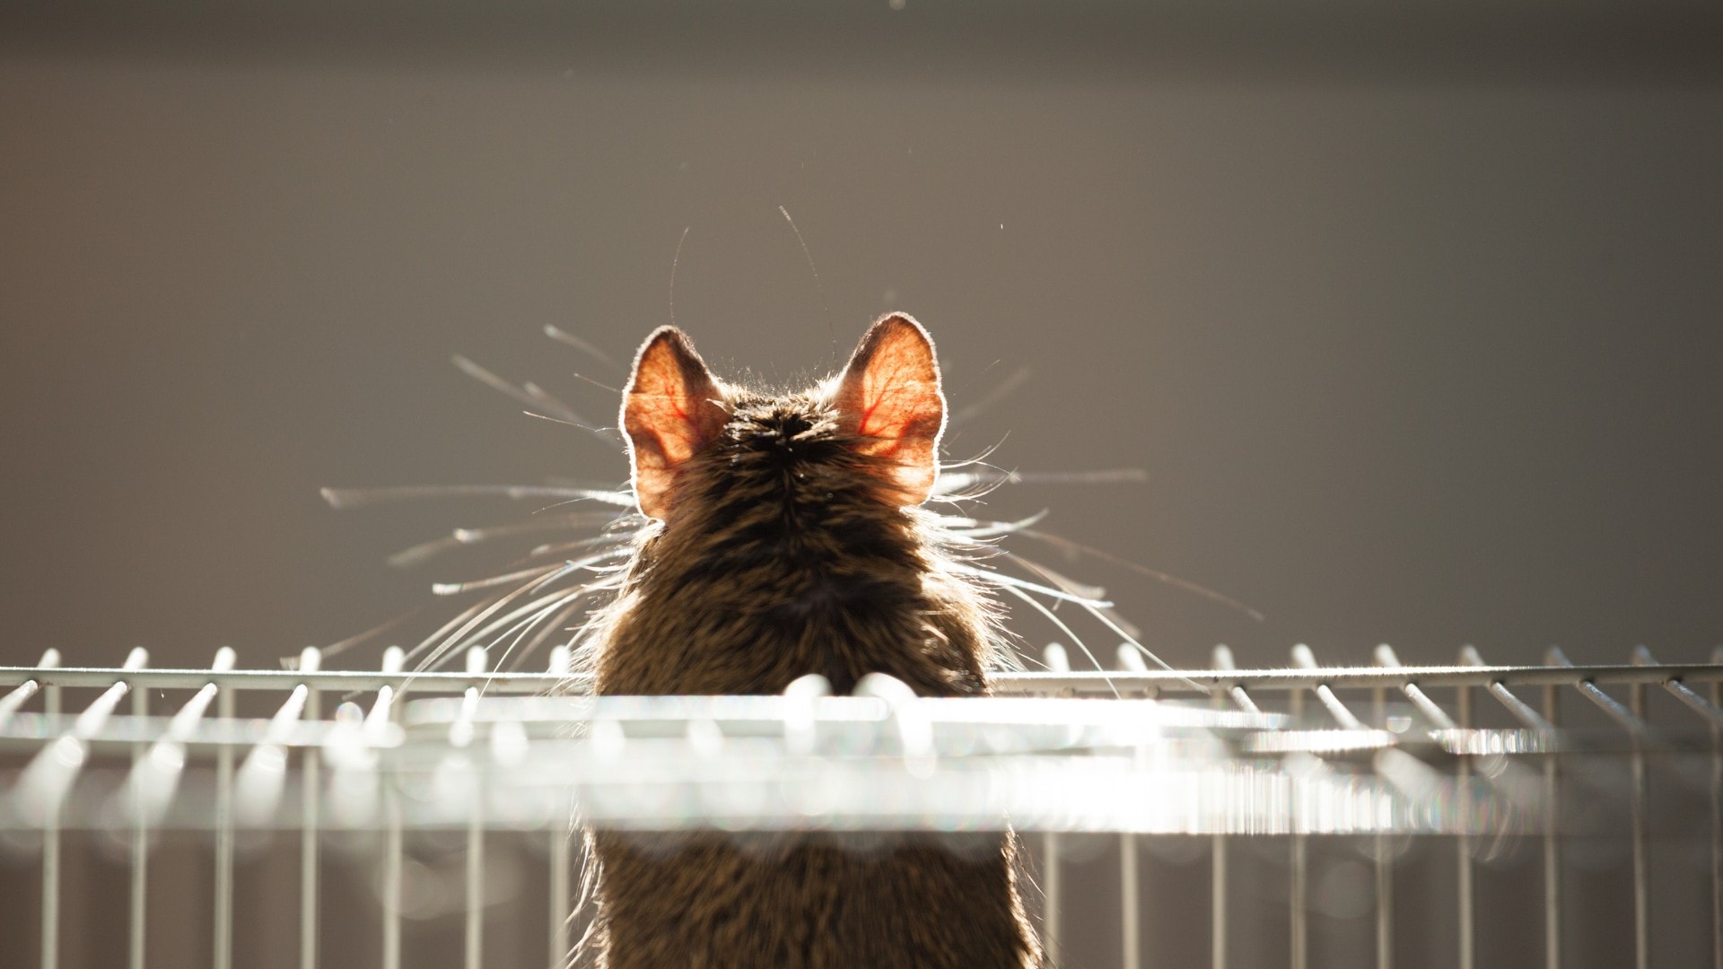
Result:
{"label": "whole white wire cage the brown rodent is standing up in", "polygon": [[[488,852],[531,843],[546,872],[536,952],[567,966],[581,931],[570,916],[579,829],[603,826],[887,840],[1013,828],[1036,855],[1039,924],[1056,960],[1068,916],[1098,905],[1079,897],[1068,847],[1110,843],[1118,907],[1108,921],[1125,969],[1160,964],[1146,938],[1192,931],[1156,924],[1165,914],[1141,891],[1141,848],[1163,838],[1208,848],[1215,969],[1322,964],[1313,859],[1328,836],[1373,848],[1356,922],[1378,967],[1437,964],[1408,952],[1394,903],[1396,845],[1408,840],[1451,845],[1439,895],[1458,966],[1504,964],[1478,936],[1480,879],[1502,843],[1539,869],[1539,890],[1513,914],[1528,950],[1549,969],[1587,964],[1590,928],[1575,922],[1595,907],[1573,909],[1563,867],[1587,838],[1608,836],[1630,845],[1623,903],[1604,919],[1608,931],[1630,926],[1633,966],[1690,964],[1687,952],[1709,948],[1723,967],[1723,657],[1668,666],[1640,648],[1630,664],[1573,666],[1551,650],[1544,666],[1489,666],[1468,647],[1456,666],[1413,667],[1378,647],[1373,667],[1323,667],[1296,647],[1289,667],[1254,671],[1234,669],[1225,647],[1204,671],[1149,671],[1134,657],[1122,650],[1118,671],[1075,672],[1048,647],[1049,672],[1001,674],[998,695],[980,700],[917,698],[884,678],[853,697],[810,679],[782,697],[593,698],[565,650],[544,672],[493,672],[474,650],[463,672],[420,674],[403,672],[400,650],[377,671],[320,669],[317,650],[296,669],[238,669],[226,648],[208,669],[150,669],[143,650],[119,669],[78,669],[50,650],[36,667],[0,669],[0,836],[14,860],[40,869],[40,922],[9,919],[19,962],[5,964],[26,964],[28,936],[43,969],[67,964],[62,940],[76,926],[62,914],[64,852],[96,838],[129,871],[133,969],[146,964],[152,933],[193,931],[164,926],[162,895],[150,891],[152,862],[188,841],[210,879],[195,931],[208,964],[229,969],[245,903],[236,866],[265,838],[298,848],[296,872],[276,879],[298,883],[276,912],[296,922],[298,966],[398,969],[417,962],[403,955],[403,912],[420,888],[410,838],[434,835],[462,872],[446,907],[458,964],[496,964],[484,943]],[[1687,714],[1654,728],[1658,693]],[[1664,836],[1654,776],[1659,800],[1668,791],[1709,809],[1676,810],[1680,843],[1699,847],[1682,853],[1701,859],[1690,867],[1707,881],[1707,907],[1654,910],[1654,883],[1668,874],[1652,864]],[[1263,935],[1239,903],[1253,848],[1282,860],[1284,948],[1239,945]],[[333,850],[365,859],[374,910],[324,897]],[[319,950],[331,922],[353,919],[370,922],[348,928],[369,933],[374,952]],[[1670,938],[1690,945],[1659,947]],[[1678,962],[1663,962],[1670,955]]]}

